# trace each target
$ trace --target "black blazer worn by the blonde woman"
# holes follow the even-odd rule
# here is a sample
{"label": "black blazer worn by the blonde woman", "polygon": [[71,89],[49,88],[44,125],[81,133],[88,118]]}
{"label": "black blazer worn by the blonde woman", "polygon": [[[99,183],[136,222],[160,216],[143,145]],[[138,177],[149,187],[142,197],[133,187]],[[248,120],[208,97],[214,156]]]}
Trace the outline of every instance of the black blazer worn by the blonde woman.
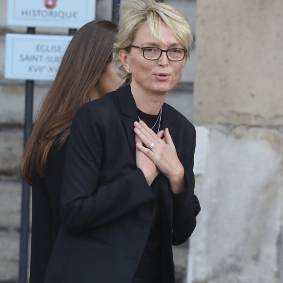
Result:
{"label": "black blazer worn by the blonde woman", "polygon": [[[68,141],[62,182],[62,228],[45,283],[131,283],[146,244],[154,195],[135,160],[136,104],[130,86],[82,106]],[[185,242],[200,211],[194,195],[195,128],[164,103],[168,127],[185,169],[185,190],[174,195],[160,174],[162,283],[173,283],[172,244]]]}

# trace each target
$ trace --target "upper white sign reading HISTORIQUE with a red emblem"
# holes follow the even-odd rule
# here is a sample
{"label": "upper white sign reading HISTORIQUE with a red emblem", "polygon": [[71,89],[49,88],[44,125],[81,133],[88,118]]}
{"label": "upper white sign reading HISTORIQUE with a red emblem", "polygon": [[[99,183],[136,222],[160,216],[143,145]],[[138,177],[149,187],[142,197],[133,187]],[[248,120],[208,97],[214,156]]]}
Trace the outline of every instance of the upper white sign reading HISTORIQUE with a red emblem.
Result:
{"label": "upper white sign reading HISTORIQUE with a red emblem", "polygon": [[7,24],[80,28],[95,20],[96,0],[8,0]]}

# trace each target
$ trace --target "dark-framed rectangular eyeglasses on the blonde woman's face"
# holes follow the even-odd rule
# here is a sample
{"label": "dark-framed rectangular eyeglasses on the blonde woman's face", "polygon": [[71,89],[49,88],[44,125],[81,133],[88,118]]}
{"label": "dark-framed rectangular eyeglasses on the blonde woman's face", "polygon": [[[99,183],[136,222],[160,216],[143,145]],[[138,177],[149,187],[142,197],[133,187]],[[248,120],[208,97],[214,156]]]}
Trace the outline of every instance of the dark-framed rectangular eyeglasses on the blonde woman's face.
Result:
{"label": "dark-framed rectangular eyeglasses on the blonde woman's face", "polygon": [[162,52],[166,52],[167,58],[170,61],[182,61],[188,51],[186,48],[169,48],[167,50],[163,50],[158,47],[140,47],[136,45],[129,45],[128,47],[142,49],[143,57],[147,60],[158,60],[161,57]]}

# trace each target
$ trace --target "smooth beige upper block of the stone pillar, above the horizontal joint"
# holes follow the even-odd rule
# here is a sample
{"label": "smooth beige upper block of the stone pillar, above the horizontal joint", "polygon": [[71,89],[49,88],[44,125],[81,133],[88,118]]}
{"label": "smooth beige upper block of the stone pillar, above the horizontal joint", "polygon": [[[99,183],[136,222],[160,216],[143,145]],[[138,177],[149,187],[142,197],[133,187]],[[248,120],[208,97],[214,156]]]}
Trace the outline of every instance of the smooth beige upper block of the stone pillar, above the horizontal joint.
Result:
{"label": "smooth beige upper block of the stone pillar, above the horizontal joint", "polygon": [[194,120],[283,124],[282,0],[198,0]]}

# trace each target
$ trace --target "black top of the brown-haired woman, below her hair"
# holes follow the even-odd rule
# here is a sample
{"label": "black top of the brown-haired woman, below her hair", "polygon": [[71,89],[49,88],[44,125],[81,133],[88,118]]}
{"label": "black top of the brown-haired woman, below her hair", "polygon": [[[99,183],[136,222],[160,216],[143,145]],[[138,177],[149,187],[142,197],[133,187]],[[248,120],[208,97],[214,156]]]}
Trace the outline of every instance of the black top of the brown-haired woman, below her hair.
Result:
{"label": "black top of the brown-haired woman, below her hair", "polygon": [[67,142],[55,142],[49,151],[46,174],[34,170],[32,185],[32,235],[30,283],[42,283],[60,226],[60,195]]}

